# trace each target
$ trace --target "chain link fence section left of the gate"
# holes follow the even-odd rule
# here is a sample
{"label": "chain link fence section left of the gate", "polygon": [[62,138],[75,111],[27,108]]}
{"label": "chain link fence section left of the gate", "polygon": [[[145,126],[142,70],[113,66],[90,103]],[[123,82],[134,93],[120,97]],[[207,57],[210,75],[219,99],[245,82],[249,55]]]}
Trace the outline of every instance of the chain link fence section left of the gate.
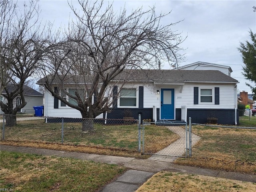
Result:
{"label": "chain link fence section left of the gate", "polygon": [[[47,122],[47,123],[46,123]],[[138,152],[138,120],[2,115],[1,138]]]}

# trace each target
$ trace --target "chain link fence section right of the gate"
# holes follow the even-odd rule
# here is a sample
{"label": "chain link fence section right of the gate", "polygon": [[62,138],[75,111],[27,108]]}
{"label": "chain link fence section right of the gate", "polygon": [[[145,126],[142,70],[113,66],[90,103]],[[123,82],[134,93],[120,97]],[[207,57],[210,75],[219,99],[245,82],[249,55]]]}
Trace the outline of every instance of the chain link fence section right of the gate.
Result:
{"label": "chain link fence section right of the gate", "polygon": [[223,156],[243,162],[256,162],[256,127],[192,124],[192,132],[200,136],[193,157]]}

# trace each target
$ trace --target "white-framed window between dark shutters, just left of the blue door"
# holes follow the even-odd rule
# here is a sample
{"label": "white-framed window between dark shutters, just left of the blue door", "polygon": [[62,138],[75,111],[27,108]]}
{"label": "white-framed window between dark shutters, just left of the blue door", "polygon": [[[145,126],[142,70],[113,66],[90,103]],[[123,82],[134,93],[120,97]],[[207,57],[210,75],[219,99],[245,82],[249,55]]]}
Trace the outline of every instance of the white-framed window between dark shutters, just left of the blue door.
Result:
{"label": "white-framed window between dark shutters, just left of the blue door", "polygon": [[138,89],[121,88],[118,107],[120,108],[138,108]]}

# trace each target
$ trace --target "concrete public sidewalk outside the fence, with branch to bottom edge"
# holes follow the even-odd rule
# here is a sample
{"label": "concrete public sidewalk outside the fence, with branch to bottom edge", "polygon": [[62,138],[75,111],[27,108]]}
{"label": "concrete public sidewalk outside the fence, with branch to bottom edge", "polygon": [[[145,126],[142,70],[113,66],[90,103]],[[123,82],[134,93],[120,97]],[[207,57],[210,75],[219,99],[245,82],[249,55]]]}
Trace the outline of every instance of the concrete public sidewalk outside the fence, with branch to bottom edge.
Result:
{"label": "concrete public sidewalk outside the fence, with branch to bottom edge", "polygon": [[134,192],[156,172],[161,170],[256,182],[256,175],[175,165],[173,161],[176,158],[168,156],[158,156],[155,160],[150,160],[4,145],[0,146],[0,150],[92,160],[94,162],[118,164],[130,168],[130,170],[118,177],[114,182],[106,185],[101,192]]}

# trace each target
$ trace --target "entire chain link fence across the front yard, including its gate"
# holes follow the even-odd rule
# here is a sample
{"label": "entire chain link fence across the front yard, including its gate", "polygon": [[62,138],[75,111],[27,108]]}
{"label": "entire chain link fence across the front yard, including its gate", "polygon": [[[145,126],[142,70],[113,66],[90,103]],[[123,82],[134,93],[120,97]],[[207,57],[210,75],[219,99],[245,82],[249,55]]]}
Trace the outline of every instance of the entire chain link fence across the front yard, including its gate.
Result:
{"label": "entire chain link fence across the front yard, including its gate", "polygon": [[2,140],[14,142],[62,143],[142,154],[192,155],[197,160],[232,158],[256,163],[256,128],[167,121],[140,124],[138,119],[1,115],[0,134]]}

